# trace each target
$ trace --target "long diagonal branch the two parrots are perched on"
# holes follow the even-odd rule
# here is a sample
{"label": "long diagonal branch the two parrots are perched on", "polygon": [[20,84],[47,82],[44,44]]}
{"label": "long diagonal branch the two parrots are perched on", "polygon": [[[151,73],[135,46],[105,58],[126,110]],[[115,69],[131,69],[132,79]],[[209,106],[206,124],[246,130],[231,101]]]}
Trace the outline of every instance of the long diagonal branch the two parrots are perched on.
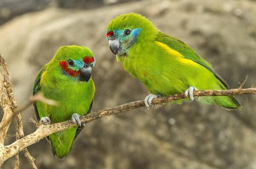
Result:
{"label": "long diagonal branch the two parrots are perched on", "polygon": [[[233,95],[245,95],[245,94],[255,95],[256,88],[241,89],[240,87],[238,89],[230,89],[230,90],[201,90],[201,91],[194,91],[193,94],[194,96],[233,96]],[[175,94],[168,97],[155,98],[152,100],[152,104],[163,105],[173,100],[179,100],[183,98],[187,98],[184,93]],[[88,123],[102,117],[115,115],[121,112],[127,112],[129,110],[137,109],[142,106],[145,106],[144,100],[139,100],[139,101],[126,103],[120,106],[116,106],[109,109],[84,115],[80,118],[80,120],[82,123]],[[74,126],[76,126],[76,124],[72,123],[71,120],[67,120],[61,123],[55,123],[51,125],[41,124],[35,132],[25,137],[22,137],[19,140],[16,140],[14,143],[10,144],[9,146],[5,146],[3,150],[0,150],[0,154],[1,154],[0,165],[8,158],[14,156],[17,152],[20,152],[25,147],[38,142],[42,138],[47,137],[52,133],[60,132],[64,129],[74,127]]]}

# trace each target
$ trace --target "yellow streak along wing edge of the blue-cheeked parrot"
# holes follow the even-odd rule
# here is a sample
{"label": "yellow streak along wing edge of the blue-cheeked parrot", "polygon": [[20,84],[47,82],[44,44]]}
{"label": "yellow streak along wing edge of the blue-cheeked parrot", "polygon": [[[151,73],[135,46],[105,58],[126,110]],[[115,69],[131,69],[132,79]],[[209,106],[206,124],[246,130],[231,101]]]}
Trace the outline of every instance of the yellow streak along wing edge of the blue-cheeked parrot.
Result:
{"label": "yellow streak along wing edge of the blue-cheeked parrot", "polygon": [[169,46],[167,46],[164,43],[158,42],[156,41],[157,45],[159,45],[161,48],[163,48],[165,51],[167,51],[169,54],[171,54],[172,56],[176,56],[177,61],[182,62],[182,63],[186,63],[186,64],[192,64],[194,66],[198,66],[197,63],[195,63],[193,60],[190,59],[186,59],[183,54],[181,54],[178,51],[175,51],[174,49],[170,48]]}

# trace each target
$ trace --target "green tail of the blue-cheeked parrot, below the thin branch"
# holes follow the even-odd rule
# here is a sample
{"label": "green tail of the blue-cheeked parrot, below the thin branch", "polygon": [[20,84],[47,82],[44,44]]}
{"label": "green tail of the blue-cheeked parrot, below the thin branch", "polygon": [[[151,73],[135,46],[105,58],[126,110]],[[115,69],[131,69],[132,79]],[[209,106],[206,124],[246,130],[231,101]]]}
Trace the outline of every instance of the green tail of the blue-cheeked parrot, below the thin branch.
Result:
{"label": "green tail of the blue-cheeked parrot, below the thin branch", "polygon": [[242,108],[239,101],[233,96],[201,97],[200,101],[207,104],[215,104],[227,110],[240,110]]}

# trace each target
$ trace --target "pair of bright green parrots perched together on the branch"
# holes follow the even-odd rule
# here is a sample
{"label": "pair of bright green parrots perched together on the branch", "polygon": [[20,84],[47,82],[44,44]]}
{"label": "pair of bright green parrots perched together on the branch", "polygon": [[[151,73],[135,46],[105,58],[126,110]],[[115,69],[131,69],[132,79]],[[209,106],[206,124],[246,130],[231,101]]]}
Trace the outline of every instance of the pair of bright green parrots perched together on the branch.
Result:
{"label": "pair of bright green parrots perched together on the branch", "polygon": [[[228,110],[240,109],[235,97],[193,97],[194,90],[223,89],[227,83],[211,64],[182,41],[160,32],[140,14],[122,14],[108,23],[106,37],[111,51],[124,69],[139,79],[151,93],[145,97],[146,108],[160,96],[185,92],[189,99],[215,104]],[[57,158],[69,154],[73,140],[83,125],[79,117],[90,112],[95,87],[91,78],[95,57],[84,46],[62,46],[38,73],[33,95],[56,100],[58,106],[36,102],[35,112],[43,123],[72,119],[78,126],[49,136]]]}

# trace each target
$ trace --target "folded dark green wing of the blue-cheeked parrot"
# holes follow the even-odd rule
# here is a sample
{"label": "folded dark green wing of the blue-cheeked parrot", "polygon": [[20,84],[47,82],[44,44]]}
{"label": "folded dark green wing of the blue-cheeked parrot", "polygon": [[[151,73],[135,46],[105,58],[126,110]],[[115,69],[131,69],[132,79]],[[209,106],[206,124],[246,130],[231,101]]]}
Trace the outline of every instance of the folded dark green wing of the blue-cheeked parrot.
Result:
{"label": "folded dark green wing of the blue-cheeked parrot", "polygon": [[229,88],[227,82],[225,82],[224,79],[221,78],[220,75],[218,75],[217,72],[214,71],[212,68],[212,65],[204,60],[202,57],[200,57],[193,49],[191,49],[186,43],[174,38],[170,37],[167,34],[164,34],[162,32],[159,32],[159,35],[156,39],[157,41],[166,44],[170,48],[174,49],[177,52],[180,52],[186,59],[193,60],[195,63],[200,64],[201,66],[204,66],[206,69],[208,69],[210,72],[212,72],[215,77],[220,80],[220,82],[227,88]]}

